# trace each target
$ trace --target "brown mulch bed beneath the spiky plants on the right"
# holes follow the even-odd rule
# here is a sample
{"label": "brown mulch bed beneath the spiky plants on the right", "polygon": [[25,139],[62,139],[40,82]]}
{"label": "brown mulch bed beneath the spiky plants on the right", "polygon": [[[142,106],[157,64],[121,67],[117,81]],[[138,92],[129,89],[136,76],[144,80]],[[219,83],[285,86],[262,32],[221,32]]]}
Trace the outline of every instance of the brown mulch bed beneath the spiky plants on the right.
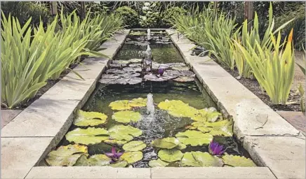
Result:
{"label": "brown mulch bed beneath the spiky plants on the right", "polygon": [[[220,64],[220,66],[222,65]],[[239,76],[237,69],[234,69],[234,71],[232,71],[226,68],[225,66],[222,66],[222,68],[225,69],[228,73],[230,73],[234,78],[237,78],[237,76]],[[295,94],[293,90],[291,90],[289,94],[288,103],[286,105],[274,104],[270,101],[270,97],[265,94],[265,92],[262,92],[262,90],[260,89],[260,85],[256,79],[241,78],[238,81],[246,88],[248,88],[248,90],[253,92],[253,94],[258,96],[259,99],[261,99],[264,103],[270,106],[270,108],[272,108],[273,110],[300,111],[300,95]]]}

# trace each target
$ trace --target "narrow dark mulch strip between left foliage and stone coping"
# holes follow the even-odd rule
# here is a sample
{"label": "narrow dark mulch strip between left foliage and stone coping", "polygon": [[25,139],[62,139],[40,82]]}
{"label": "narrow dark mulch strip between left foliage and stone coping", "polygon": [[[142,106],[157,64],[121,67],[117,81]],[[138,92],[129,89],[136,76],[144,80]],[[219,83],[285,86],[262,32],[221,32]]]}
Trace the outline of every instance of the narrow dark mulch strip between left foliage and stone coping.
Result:
{"label": "narrow dark mulch strip between left foliage and stone coping", "polygon": [[[81,61],[84,60],[84,57],[81,57]],[[74,69],[78,64],[74,63],[74,64],[70,64],[69,68],[70,69]],[[47,80],[47,84],[44,85],[44,87],[41,87],[41,89],[38,90],[38,92],[36,93],[36,95],[32,98],[32,99],[28,99],[27,101],[24,101],[23,103],[20,103],[18,106],[15,106],[14,108],[11,108],[12,110],[24,110],[25,108],[27,108],[31,103],[33,103],[34,101],[36,101],[36,99],[39,99],[45,92],[47,92],[51,87],[53,87],[53,85],[55,85],[56,83],[58,83],[58,81],[60,81],[62,78],[64,78],[64,76],[66,76],[68,73],[70,72],[70,70],[65,70],[62,71],[62,73],[60,73],[60,78],[56,79],[56,80]],[[6,110],[8,108],[6,108],[6,106],[1,105],[1,110]]]}

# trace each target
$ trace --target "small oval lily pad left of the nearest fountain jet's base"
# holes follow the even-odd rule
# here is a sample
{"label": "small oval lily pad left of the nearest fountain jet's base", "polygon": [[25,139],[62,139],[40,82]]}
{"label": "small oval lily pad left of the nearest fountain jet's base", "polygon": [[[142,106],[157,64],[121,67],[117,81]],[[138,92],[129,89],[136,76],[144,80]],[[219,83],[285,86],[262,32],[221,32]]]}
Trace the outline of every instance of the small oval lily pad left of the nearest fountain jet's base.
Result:
{"label": "small oval lily pad left of the nearest fountain jet's base", "polygon": [[122,123],[138,122],[141,120],[141,115],[133,110],[121,110],[114,113],[114,115],[112,115],[112,119]]}

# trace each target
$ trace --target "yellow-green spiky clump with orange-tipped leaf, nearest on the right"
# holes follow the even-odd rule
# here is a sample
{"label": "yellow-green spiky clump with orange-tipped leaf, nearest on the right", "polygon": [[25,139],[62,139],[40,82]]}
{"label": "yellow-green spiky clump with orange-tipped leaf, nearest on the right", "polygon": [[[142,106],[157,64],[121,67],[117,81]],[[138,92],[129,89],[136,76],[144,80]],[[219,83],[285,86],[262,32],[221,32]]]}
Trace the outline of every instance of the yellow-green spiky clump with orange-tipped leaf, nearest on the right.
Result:
{"label": "yellow-green spiky clump with orange-tipped leaf, nearest on the right", "polygon": [[255,46],[247,43],[244,48],[235,41],[244,59],[251,66],[260,87],[267,92],[274,104],[286,104],[293,83],[295,62],[292,36],[293,29],[288,36],[288,42],[281,43],[280,31],[277,39],[270,33],[272,47],[262,47],[255,39]]}

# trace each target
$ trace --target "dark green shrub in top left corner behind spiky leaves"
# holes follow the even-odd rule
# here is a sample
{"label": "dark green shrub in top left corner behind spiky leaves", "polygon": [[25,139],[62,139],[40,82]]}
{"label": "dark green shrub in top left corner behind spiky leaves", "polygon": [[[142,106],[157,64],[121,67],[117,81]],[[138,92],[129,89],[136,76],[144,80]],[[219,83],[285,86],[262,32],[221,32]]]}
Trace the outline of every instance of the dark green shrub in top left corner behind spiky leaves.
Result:
{"label": "dark green shrub in top left corner behind spiky leaves", "polygon": [[17,17],[21,25],[25,24],[29,18],[32,18],[31,24],[39,25],[40,20],[47,24],[50,20],[50,12],[44,4],[32,3],[25,1],[3,1],[1,2],[1,10],[8,17],[11,14]]}

